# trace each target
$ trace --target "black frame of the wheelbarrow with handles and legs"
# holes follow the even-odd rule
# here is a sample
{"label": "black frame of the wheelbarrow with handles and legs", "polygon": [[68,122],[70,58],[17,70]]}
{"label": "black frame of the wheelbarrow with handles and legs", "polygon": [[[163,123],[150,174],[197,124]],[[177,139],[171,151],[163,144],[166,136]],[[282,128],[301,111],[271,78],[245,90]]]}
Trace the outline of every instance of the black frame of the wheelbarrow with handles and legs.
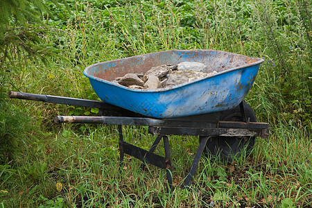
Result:
{"label": "black frame of the wheelbarrow with handles and legs", "polygon": [[[243,122],[240,122],[219,121],[220,112],[184,116],[173,119],[154,119],[101,101],[28,94],[23,92],[9,92],[9,97],[32,101],[43,101],[46,103],[97,107],[102,116],[56,116],[54,119],[55,123],[100,123],[118,125],[120,167],[123,165],[124,154],[127,154],[140,159],[143,162],[140,168],[144,168],[145,164],[152,164],[153,166],[166,169],[166,178],[169,190],[172,189],[172,175],[171,153],[167,135],[205,136],[200,140],[191,169],[184,181],[184,187],[189,187],[189,184],[193,179],[193,175],[198,168],[198,163],[200,162],[203,150],[205,149],[207,141],[210,137],[268,137],[269,134],[268,123],[250,122],[249,119],[246,118],[243,103],[240,104]],[[107,116],[111,114],[118,114],[118,116]],[[123,139],[122,125],[148,125],[148,132],[150,134],[157,135],[157,138],[150,147],[150,150],[144,150],[125,142]],[[165,157],[154,153],[155,148],[161,139],[164,142]]]}

